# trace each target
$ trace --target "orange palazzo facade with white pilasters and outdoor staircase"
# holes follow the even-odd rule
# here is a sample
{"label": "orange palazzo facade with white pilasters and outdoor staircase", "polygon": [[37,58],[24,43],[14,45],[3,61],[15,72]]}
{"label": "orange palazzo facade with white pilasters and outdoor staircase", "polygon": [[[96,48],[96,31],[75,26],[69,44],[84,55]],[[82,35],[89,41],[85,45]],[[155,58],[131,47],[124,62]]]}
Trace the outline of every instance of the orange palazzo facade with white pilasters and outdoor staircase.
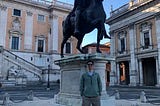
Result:
{"label": "orange palazzo facade with white pilasters and outdoor staircase", "polygon": [[[0,1],[0,82],[57,80],[62,22],[73,5],[57,0]],[[77,53],[70,38],[65,55]],[[50,72],[49,72],[49,71]]]}

